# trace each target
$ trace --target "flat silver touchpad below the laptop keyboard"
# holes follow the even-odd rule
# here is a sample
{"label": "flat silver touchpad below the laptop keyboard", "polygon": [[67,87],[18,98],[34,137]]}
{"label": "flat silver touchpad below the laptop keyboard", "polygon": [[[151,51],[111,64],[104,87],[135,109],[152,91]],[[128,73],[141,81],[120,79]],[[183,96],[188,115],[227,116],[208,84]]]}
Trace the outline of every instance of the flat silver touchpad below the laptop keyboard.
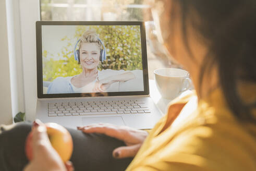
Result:
{"label": "flat silver touchpad below the laptop keyboard", "polygon": [[84,126],[98,123],[108,123],[114,125],[125,125],[125,122],[121,116],[109,116],[109,117],[84,117],[82,118]]}

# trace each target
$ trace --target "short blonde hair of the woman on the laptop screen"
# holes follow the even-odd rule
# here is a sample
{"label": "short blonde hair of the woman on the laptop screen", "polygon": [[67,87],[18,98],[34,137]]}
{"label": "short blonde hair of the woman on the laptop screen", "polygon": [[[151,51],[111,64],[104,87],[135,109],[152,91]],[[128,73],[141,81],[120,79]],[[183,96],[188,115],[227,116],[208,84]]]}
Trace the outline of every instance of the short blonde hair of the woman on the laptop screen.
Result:
{"label": "short blonde hair of the woman on the laptop screen", "polygon": [[82,43],[97,43],[97,45],[100,47],[100,50],[102,50],[101,41],[99,39],[99,36],[94,30],[87,30],[86,32],[83,33],[79,41],[79,45],[78,45],[79,49]]}

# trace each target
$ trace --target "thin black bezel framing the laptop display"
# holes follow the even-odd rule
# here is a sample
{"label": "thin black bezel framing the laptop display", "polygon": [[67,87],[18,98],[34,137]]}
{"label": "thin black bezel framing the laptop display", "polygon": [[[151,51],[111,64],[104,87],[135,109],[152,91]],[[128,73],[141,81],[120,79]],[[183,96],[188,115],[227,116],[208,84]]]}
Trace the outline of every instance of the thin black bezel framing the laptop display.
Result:
{"label": "thin black bezel framing the laptop display", "polygon": [[[96,92],[96,93],[61,93],[61,94],[43,94],[43,65],[42,65],[42,26],[47,25],[66,25],[66,26],[140,26],[141,32],[141,52],[143,68],[143,86],[144,91],[127,92]],[[37,70],[37,88],[38,98],[60,98],[60,97],[90,97],[90,96],[126,96],[126,95],[149,95],[149,76],[147,60],[147,44],[145,35],[145,24],[143,21],[36,21],[36,70]]]}

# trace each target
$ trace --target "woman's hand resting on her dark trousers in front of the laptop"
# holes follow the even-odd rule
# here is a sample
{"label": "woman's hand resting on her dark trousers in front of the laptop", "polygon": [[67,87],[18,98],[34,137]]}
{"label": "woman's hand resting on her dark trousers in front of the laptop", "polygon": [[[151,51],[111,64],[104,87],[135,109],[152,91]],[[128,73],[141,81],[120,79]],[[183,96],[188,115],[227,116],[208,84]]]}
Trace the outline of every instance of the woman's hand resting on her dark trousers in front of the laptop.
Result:
{"label": "woman's hand resting on her dark trousers in front of the laptop", "polygon": [[112,124],[92,124],[78,127],[78,129],[84,133],[103,133],[106,136],[124,141],[127,146],[120,146],[113,151],[115,158],[134,157],[148,136],[147,131]]}

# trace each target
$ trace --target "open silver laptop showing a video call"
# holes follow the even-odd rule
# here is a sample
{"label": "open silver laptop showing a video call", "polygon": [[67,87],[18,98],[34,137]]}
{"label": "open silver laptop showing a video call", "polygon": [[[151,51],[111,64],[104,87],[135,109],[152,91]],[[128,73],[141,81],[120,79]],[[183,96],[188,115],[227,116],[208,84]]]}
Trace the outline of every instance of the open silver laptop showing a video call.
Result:
{"label": "open silver laptop showing a video call", "polygon": [[37,21],[36,118],[68,128],[109,123],[151,129],[142,21]]}

